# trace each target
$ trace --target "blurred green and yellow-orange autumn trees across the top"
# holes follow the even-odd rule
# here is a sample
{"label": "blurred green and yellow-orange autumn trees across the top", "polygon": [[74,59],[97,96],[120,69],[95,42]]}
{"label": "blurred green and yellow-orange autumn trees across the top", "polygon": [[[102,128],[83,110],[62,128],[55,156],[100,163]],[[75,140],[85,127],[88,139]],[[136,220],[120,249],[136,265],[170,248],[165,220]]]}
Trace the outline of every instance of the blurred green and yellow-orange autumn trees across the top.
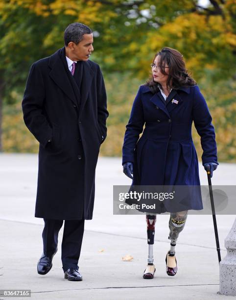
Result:
{"label": "blurred green and yellow-orange autumn trees across the top", "polygon": [[63,47],[72,22],[94,30],[92,59],[105,74],[144,79],[168,46],[184,54],[196,80],[235,78],[235,0],[0,0],[0,124],[2,101],[22,95],[30,65]]}

